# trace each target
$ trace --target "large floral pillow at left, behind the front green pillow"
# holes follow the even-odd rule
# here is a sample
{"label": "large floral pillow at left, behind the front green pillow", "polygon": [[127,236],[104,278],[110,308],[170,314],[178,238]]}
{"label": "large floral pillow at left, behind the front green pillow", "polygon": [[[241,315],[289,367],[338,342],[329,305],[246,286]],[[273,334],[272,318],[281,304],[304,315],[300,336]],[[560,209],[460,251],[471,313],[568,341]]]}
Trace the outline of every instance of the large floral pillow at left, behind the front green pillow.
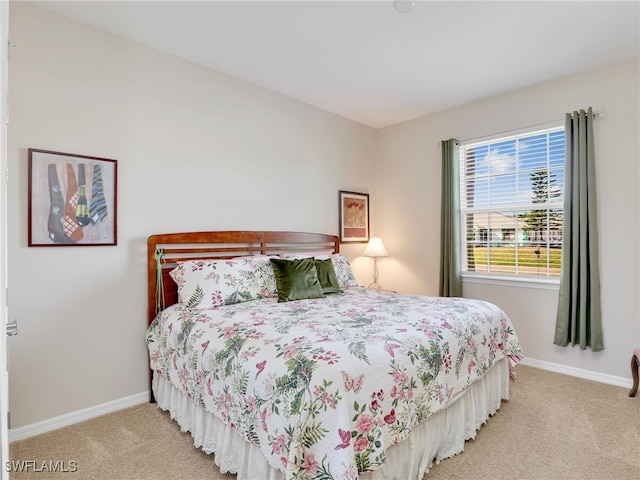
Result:
{"label": "large floral pillow at left, behind the front green pillow", "polygon": [[178,302],[188,308],[213,308],[277,296],[275,276],[263,258],[187,260],[170,272]]}

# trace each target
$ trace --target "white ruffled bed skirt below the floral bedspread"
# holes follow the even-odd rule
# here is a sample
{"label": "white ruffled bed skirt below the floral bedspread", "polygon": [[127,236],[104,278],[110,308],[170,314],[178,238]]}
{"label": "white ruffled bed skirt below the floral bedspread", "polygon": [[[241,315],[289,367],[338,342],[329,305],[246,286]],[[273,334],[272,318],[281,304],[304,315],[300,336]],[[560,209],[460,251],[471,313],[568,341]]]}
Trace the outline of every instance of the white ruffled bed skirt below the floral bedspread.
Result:
{"label": "white ruffled bed skirt below the floral bedspread", "polygon": [[[182,431],[191,432],[193,443],[207,453],[222,473],[236,473],[238,480],[282,480],[260,449],[214,415],[204,411],[173,387],[163,376],[154,375],[153,392],[158,407],[169,411]],[[446,410],[416,427],[411,436],[387,450],[382,468],[361,475],[360,480],[421,479],[435,460],[464,450],[464,442],[509,399],[509,359],[504,358],[482,379],[471,385]]]}

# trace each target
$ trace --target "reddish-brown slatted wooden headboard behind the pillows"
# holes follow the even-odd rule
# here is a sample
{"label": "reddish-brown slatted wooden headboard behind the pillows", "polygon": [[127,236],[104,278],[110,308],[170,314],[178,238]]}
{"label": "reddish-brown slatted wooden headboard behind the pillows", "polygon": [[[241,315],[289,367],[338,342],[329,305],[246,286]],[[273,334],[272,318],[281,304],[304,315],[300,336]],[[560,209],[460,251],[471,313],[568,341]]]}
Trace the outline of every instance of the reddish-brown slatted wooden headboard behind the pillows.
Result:
{"label": "reddish-brown slatted wooden headboard behind the pillows", "polygon": [[[305,232],[220,231],[163,233],[147,241],[148,301],[147,324],[158,308],[178,302],[177,286],[169,272],[177,262],[202,259],[226,259],[248,255],[285,253],[340,252],[336,235]],[[162,277],[158,275],[158,268]],[[159,282],[158,278],[162,281]],[[164,302],[162,302],[164,299]]]}

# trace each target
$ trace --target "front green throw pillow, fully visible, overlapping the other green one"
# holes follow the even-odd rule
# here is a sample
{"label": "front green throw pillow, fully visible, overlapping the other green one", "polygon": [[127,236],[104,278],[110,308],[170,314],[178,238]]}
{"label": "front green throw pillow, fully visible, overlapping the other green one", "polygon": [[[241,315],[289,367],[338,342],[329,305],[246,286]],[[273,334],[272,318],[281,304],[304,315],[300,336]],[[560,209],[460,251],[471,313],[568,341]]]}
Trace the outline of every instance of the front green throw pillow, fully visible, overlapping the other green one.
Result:
{"label": "front green throw pillow, fully visible, overlapping the other green one", "polygon": [[313,257],[296,260],[272,258],[271,265],[276,277],[278,302],[324,297]]}

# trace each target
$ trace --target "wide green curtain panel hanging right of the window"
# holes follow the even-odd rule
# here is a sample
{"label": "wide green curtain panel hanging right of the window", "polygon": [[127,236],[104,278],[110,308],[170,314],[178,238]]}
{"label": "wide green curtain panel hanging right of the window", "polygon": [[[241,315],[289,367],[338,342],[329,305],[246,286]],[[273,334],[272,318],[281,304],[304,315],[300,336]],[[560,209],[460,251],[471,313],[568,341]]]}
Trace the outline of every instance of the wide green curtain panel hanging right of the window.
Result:
{"label": "wide green curtain panel hanging right of the window", "polygon": [[562,271],[553,343],[604,349],[596,218],[593,111],[566,115]]}

